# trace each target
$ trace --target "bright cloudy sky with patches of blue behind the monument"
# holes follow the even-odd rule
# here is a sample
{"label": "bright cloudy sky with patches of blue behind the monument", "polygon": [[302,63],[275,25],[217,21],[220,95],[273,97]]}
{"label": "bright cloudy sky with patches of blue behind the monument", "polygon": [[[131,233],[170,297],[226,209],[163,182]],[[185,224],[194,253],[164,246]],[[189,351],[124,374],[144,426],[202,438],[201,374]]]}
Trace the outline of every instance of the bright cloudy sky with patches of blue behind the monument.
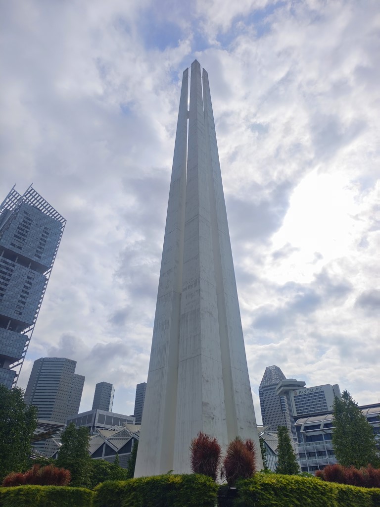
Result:
{"label": "bright cloudy sky with patches of blue behind the monument", "polygon": [[258,422],[264,369],[380,398],[378,0],[1,2],[0,200],[66,219],[19,385],[146,381],[182,71],[208,70]]}

